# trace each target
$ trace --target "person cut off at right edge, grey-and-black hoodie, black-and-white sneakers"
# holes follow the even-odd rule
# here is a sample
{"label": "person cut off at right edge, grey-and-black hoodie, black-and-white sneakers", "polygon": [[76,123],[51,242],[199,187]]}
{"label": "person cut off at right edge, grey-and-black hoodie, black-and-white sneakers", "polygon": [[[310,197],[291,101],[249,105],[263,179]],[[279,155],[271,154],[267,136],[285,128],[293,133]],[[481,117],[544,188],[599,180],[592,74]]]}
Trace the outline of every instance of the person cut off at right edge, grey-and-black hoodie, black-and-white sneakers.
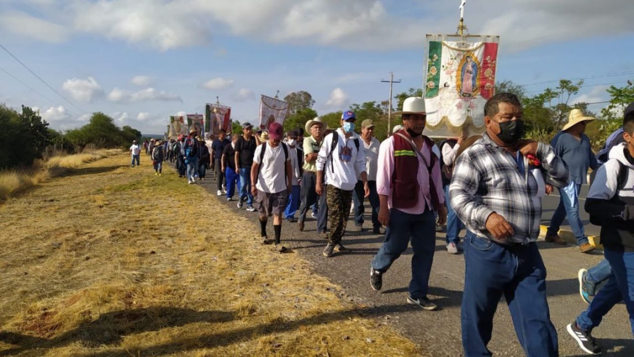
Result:
{"label": "person cut off at right edge, grey-and-black hoodie, black-and-white sneakers", "polygon": [[634,104],[623,118],[624,142],[612,147],[598,168],[585,209],[590,222],[601,226],[601,243],[611,274],[590,306],[567,325],[567,332],[586,353],[601,354],[592,329],[614,305],[623,301],[634,333]]}

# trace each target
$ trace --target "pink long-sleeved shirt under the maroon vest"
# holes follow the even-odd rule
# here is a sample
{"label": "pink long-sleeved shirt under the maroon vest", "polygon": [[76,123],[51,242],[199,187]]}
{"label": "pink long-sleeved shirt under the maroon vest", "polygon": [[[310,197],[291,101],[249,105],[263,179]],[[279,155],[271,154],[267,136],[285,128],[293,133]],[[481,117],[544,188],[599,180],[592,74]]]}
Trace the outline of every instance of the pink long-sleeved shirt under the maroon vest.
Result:
{"label": "pink long-sleeved shirt under the maroon vest", "polygon": [[[427,144],[423,144],[422,153],[425,156],[427,162],[431,162],[432,148],[427,147]],[[418,192],[411,192],[412,194],[418,194],[418,202],[416,206],[410,208],[398,208],[399,211],[404,213],[410,213],[417,215],[425,212],[425,207],[429,207],[433,210],[432,199],[430,196],[429,185],[429,171],[427,166],[417,154],[418,159]],[[394,137],[389,137],[381,143],[380,149],[378,149],[378,172],[377,172],[377,192],[380,195],[387,196],[388,207],[392,208],[392,174],[394,173]],[[436,184],[436,192],[441,204],[444,204],[444,191],[443,180],[441,179],[439,160],[436,160],[436,165],[432,168],[432,177],[434,184]]]}

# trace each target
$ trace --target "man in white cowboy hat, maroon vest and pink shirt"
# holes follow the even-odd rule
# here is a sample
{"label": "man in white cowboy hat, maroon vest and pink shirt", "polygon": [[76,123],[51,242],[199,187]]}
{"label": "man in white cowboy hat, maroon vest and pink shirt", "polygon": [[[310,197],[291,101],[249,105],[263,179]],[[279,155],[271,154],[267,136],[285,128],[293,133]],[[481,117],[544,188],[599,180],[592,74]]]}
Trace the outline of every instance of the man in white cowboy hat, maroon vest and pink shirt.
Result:
{"label": "man in white cowboy hat, maroon vest and pink shirt", "polygon": [[384,224],[385,240],[370,263],[370,285],[380,290],[383,274],[411,242],[411,281],[408,304],[425,310],[437,305],[427,298],[429,275],[436,248],[436,217],[444,224],[443,186],[439,158],[432,152],[434,142],[422,135],[427,119],[425,100],[406,98],[403,130],[384,140],[378,151],[377,191],[380,199],[378,220]]}

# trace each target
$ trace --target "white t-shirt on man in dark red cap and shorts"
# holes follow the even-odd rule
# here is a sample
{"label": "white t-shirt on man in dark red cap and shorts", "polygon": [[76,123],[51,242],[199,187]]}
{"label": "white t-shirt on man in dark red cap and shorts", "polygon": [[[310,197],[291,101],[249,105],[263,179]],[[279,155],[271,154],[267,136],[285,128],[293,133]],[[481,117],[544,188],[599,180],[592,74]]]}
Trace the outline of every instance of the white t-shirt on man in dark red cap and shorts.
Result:
{"label": "white t-shirt on man in dark red cap and shorts", "polygon": [[[260,162],[262,148],[264,151],[264,163]],[[268,142],[257,145],[253,162],[260,165],[260,175],[257,178],[256,189],[268,193],[278,193],[287,189],[286,185],[286,161],[290,161],[290,151],[287,160],[284,160],[284,149],[281,143],[277,147],[271,147]]]}

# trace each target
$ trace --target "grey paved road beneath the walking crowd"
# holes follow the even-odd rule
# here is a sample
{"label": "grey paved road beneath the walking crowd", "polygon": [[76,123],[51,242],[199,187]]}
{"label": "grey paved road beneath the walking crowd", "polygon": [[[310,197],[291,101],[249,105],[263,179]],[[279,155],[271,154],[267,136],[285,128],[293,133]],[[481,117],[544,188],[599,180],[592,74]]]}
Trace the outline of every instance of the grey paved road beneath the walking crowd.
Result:
{"label": "grey paved road beneath the walking crowd", "polygon": [[[213,173],[211,173],[213,175]],[[183,180],[183,184],[186,184]],[[201,184],[210,192],[216,192],[215,182]],[[586,187],[587,191],[587,187]],[[546,199],[546,210],[554,210],[559,198]],[[551,203],[552,201],[552,203]],[[253,217],[257,213],[236,208],[236,201],[227,203],[224,196],[219,204],[230,205],[236,213]],[[369,212],[369,210],[366,210]],[[547,212],[552,214],[552,212]],[[587,219],[587,217],[585,218]],[[366,224],[369,222],[366,218]],[[350,223],[351,224],[351,223]],[[407,286],[410,280],[411,248],[408,249],[384,275],[381,292],[370,288],[370,260],[382,243],[382,236],[368,232],[349,232],[344,237],[347,247],[353,249],[348,255],[334,255],[328,259],[321,255],[325,239],[320,239],[314,231],[316,222],[306,222],[307,232],[299,232],[297,224],[283,224],[282,239],[295,253],[313,263],[316,273],[327,276],[330,281],[344,288],[343,299],[354,300],[372,307],[373,316],[390,321],[392,325],[420,345],[430,356],[460,356],[460,301],[462,299],[464,260],[462,255],[450,255],[444,248],[444,234],[437,234],[436,255],[430,278],[430,298],[434,299],[440,311],[421,311],[406,304]],[[602,259],[602,255],[584,255],[574,246],[558,246],[546,242],[538,243],[548,269],[547,291],[552,321],[559,334],[561,356],[581,356],[566,332],[566,325],[585,309],[586,304],[578,295],[576,273],[581,267],[590,267]],[[604,345],[607,356],[634,356],[632,333],[623,305],[618,305],[605,317],[604,323],[594,335]],[[524,353],[515,337],[514,328],[504,302],[495,316],[493,339],[489,349],[496,356],[523,356]]]}

